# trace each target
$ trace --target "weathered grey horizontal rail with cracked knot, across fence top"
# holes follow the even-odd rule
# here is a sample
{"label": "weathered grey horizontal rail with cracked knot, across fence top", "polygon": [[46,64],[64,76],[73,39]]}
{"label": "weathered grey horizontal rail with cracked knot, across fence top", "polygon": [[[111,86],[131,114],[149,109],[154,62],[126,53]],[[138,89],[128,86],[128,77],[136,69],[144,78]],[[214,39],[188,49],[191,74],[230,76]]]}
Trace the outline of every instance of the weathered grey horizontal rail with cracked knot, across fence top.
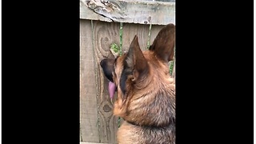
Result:
{"label": "weathered grey horizontal rail with cracked knot, across fence top", "polygon": [[[80,0],[82,19],[96,19],[109,22],[166,25],[175,23],[175,2],[125,1],[125,0]],[[108,19],[85,13],[90,9]],[[89,11],[90,12],[90,11]],[[90,18],[89,18],[90,17]]]}

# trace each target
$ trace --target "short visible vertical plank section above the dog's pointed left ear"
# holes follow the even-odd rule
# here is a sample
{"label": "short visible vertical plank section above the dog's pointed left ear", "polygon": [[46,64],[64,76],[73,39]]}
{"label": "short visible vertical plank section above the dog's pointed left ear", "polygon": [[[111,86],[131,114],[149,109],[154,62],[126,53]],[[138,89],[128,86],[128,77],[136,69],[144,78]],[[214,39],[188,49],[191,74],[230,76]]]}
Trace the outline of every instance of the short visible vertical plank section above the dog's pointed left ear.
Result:
{"label": "short visible vertical plank section above the dog's pointed left ear", "polygon": [[146,50],[150,25],[123,23],[122,25],[122,54],[129,50],[130,43],[135,34],[138,36],[138,43],[142,50]]}

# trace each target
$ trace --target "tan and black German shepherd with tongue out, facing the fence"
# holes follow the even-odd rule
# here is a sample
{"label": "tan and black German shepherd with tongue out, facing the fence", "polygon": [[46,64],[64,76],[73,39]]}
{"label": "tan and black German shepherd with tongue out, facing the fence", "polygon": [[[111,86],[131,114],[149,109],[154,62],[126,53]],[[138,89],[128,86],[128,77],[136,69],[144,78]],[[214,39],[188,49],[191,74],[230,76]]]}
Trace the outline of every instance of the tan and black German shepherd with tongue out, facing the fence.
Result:
{"label": "tan and black German shepherd with tongue out, facing the fence", "polygon": [[174,57],[175,26],[160,30],[149,50],[134,36],[126,54],[100,62],[116,90],[114,115],[124,119],[119,144],[175,144],[175,82],[168,62]]}

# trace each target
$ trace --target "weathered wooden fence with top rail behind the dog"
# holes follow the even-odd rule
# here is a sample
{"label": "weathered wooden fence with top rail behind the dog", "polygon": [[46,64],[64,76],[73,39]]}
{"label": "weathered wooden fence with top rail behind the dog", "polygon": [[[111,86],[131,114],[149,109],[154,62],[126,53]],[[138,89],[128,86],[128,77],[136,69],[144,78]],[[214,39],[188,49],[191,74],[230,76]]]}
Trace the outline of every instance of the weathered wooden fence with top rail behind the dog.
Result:
{"label": "weathered wooden fence with top rail behind the dog", "polygon": [[112,114],[116,95],[110,99],[99,62],[110,56],[113,43],[125,53],[135,34],[146,50],[163,26],[175,23],[175,2],[170,1],[80,1],[81,142],[116,143],[119,120]]}

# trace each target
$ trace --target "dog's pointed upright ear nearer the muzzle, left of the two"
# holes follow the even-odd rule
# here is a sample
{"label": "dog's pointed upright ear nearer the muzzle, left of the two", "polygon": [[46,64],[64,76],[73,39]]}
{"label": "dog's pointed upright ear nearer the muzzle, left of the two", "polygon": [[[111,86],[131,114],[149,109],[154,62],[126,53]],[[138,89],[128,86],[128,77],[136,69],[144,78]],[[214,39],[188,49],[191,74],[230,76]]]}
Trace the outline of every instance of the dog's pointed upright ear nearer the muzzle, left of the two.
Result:
{"label": "dog's pointed upright ear nearer the muzzle, left of the two", "polygon": [[126,55],[125,68],[128,68],[133,74],[132,81],[137,80],[148,71],[148,64],[139,47],[137,35],[134,36],[134,40],[130,44],[129,51]]}

